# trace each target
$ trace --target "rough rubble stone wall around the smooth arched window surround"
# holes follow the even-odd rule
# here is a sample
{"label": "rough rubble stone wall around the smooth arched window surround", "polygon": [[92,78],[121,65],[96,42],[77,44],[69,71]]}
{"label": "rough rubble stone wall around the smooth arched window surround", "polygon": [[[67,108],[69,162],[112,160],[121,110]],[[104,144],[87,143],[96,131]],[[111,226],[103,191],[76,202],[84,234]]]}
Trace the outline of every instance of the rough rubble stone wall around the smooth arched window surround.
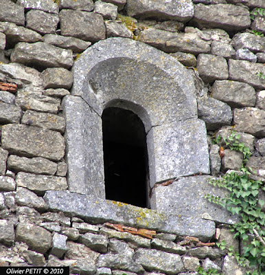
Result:
{"label": "rough rubble stone wall around the smooth arched window surround", "polygon": [[[202,235],[187,230],[198,223],[189,211],[181,212],[185,219],[164,217],[115,201],[89,204],[85,195],[65,204],[73,193],[67,191],[61,100],[71,93],[73,63],[92,44],[119,36],[156,47],[193,76],[211,176],[240,169],[240,153],[224,148],[221,159],[210,142],[236,131],[253,153],[247,165],[264,182],[265,38],[257,34],[265,34],[265,21],[259,14],[251,19],[255,8],[265,2],[0,0],[0,265],[70,266],[71,274],[196,274],[200,265],[240,272],[213,243],[226,239],[240,249],[226,218],[211,221],[216,234]],[[192,185],[196,197],[205,192],[199,183],[206,177],[184,177],[155,192],[174,191],[179,200]],[[200,214],[207,212],[200,206]],[[122,210],[108,213],[113,207]],[[121,218],[125,208],[135,214]]]}

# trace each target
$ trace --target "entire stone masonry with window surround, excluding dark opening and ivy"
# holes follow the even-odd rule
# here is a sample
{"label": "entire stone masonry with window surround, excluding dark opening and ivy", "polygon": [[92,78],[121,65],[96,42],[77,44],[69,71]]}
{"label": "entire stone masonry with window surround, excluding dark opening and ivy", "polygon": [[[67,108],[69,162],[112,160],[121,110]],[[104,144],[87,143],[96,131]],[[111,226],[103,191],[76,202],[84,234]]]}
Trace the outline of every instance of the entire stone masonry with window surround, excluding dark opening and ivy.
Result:
{"label": "entire stone masonry with window surround, excluding dark opening and ivy", "polygon": [[[214,243],[240,252],[227,229],[238,217],[205,195],[224,197],[209,179],[242,166],[241,153],[223,143],[221,159],[211,144],[233,131],[265,182],[265,17],[255,8],[264,0],[0,0],[0,266],[249,270]],[[149,209],[106,199],[108,108],[143,124]]]}

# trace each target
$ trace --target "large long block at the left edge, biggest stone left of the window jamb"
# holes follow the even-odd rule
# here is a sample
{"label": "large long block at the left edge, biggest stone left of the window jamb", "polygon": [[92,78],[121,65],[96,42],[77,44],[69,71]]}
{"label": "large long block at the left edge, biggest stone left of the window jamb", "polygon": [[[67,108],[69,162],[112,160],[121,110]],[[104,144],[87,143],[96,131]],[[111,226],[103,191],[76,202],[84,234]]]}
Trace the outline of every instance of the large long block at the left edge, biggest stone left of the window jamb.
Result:
{"label": "large long block at the left edge, biggest stone left of the window jamb", "polygon": [[10,153],[25,157],[46,157],[58,161],[65,155],[65,142],[60,133],[35,126],[4,125],[1,142]]}

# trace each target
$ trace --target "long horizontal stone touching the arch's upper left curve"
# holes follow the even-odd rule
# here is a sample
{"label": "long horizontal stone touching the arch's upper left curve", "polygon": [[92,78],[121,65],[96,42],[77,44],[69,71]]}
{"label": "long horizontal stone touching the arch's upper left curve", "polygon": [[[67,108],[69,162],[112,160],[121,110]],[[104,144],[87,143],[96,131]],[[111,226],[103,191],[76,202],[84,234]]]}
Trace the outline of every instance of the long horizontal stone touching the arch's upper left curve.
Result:
{"label": "long horizontal stone touching the arch's upper left curve", "polygon": [[16,44],[11,54],[11,61],[25,65],[41,67],[64,67],[73,65],[71,50],[61,49],[43,42]]}

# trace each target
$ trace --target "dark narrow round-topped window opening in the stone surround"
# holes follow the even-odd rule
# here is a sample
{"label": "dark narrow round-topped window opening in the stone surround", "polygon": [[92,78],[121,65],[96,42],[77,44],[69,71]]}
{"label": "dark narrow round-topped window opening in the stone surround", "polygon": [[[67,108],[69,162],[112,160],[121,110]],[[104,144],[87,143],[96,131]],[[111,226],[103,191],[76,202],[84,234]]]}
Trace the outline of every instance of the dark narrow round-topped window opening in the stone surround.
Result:
{"label": "dark narrow round-topped window opening in the stone surround", "polygon": [[148,207],[148,155],[143,122],[132,111],[102,114],[106,199]]}

